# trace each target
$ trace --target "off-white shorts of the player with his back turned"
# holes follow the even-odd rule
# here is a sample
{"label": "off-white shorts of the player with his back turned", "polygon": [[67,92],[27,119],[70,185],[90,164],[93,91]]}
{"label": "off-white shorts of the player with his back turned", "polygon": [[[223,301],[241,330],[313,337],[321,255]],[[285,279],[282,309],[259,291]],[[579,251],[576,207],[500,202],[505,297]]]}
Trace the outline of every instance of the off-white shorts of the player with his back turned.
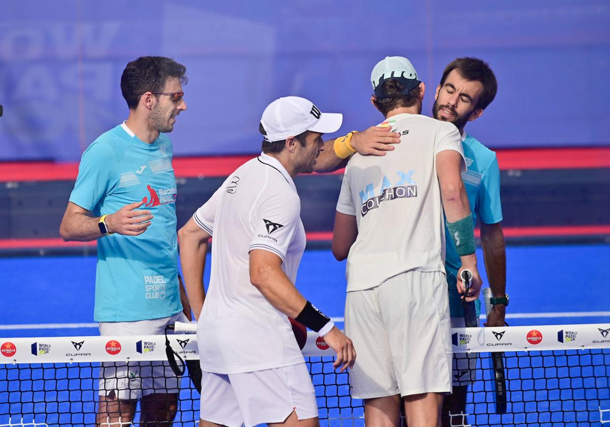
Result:
{"label": "off-white shorts of the player with his back turned", "polygon": [[445,274],[407,271],[348,292],[345,334],[358,356],[351,397],[451,392],[451,328]]}

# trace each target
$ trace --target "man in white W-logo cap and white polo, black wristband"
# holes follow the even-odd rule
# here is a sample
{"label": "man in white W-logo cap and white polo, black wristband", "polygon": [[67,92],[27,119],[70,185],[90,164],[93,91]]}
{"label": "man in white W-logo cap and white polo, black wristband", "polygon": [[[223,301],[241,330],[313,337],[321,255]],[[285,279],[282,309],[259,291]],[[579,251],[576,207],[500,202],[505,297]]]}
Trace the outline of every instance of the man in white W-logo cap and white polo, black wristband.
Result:
{"label": "man in white W-logo cap and white polo, black wristband", "polygon": [[178,233],[198,318],[200,426],[318,425],[314,387],[287,316],[326,340],[337,352],[334,367],[354,363],[351,340],[294,286],[306,240],[293,177],[314,170],[321,135],[341,123],[342,115],[304,98],[271,102],[260,121],[263,152],[230,174]]}

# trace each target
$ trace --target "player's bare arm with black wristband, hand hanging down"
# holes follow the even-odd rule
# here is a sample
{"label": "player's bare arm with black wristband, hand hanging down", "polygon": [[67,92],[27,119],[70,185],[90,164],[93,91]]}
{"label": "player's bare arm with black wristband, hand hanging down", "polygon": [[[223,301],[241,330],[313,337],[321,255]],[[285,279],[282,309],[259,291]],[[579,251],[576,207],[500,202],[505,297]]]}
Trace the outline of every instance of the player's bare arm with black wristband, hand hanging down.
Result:
{"label": "player's bare arm with black wristband, hand hanging down", "polygon": [[301,295],[282,270],[279,256],[265,249],[251,249],[249,269],[250,282],[273,307],[324,337],[337,353],[335,368],[340,366],[343,371],[353,367],[356,361],[353,343]]}

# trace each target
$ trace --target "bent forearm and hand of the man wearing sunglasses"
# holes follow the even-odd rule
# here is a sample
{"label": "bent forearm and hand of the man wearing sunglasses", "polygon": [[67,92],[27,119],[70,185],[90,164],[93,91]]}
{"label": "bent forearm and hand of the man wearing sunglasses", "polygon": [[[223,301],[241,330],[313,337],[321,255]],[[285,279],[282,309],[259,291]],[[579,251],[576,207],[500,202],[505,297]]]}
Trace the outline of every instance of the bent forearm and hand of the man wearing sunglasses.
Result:
{"label": "bent forearm and hand of the man wearing sunglasses", "polygon": [[[137,210],[140,206],[141,201],[123,206],[117,212],[107,215],[104,222],[108,231],[124,235],[140,235],[145,232],[151,224],[152,215],[149,210]],[[91,217],[90,211],[69,201],[59,226],[59,234],[66,242],[99,239],[105,235],[99,231],[99,218]]]}

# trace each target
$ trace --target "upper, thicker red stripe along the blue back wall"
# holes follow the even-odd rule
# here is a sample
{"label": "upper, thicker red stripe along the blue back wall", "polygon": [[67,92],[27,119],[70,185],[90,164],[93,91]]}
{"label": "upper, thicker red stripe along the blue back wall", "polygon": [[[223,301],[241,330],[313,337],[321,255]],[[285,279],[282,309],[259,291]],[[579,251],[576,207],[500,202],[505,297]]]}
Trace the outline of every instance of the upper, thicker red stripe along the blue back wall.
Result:
{"label": "upper, thicker red stripe along the blue back wall", "polygon": [[[501,170],[610,168],[610,147],[498,149],[496,154]],[[224,177],[254,156],[176,157],[173,164],[178,178]],[[76,162],[0,163],[0,181],[73,181],[77,173]]]}

